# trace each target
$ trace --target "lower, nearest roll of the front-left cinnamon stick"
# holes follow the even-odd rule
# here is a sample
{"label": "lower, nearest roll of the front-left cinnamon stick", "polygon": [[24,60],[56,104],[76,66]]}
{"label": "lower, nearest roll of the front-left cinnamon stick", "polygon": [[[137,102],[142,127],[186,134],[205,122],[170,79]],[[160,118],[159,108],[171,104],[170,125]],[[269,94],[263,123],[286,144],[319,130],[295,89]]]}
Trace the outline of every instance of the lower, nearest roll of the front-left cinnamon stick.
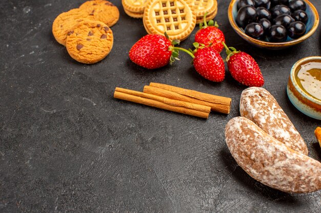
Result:
{"label": "lower, nearest roll of the front-left cinnamon stick", "polygon": [[[201,112],[201,111],[197,111],[197,110],[186,108],[186,107],[182,107],[182,106],[173,106],[173,105],[165,104],[163,102],[159,102],[159,101],[155,101],[155,100],[152,100],[152,99],[135,96],[133,94],[128,94],[128,93],[124,93],[124,92],[125,92],[125,90],[123,90],[123,92],[115,91],[114,92],[114,98],[125,100],[125,101],[130,101],[130,102],[134,102],[134,103],[138,103],[138,104],[144,104],[144,105],[147,105],[147,106],[152,106],[152,107],[156,107],[156,108],[160,108],[160,109],[179,112],[179,113],[183,113],[183,114],[202,117],[204,119],[207,119],[208,116],[209,116],[209,113],[207,113],[207,112]],[[135,92],[129,92],[129,93],[135,93]]]}

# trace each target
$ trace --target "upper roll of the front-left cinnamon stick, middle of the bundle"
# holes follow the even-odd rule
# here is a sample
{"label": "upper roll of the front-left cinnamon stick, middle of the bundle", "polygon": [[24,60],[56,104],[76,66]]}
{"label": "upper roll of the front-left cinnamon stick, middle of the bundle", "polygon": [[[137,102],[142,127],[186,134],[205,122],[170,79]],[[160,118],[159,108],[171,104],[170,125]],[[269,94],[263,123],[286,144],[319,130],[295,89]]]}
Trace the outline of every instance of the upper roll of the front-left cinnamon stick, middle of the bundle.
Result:
{"label": "upper roll of the front-left cinnamon stick, middle of the bundle", "polygon": [[119,87],[116,87],[115,91],[123,92],[123,93],[127,93],[127,94],[132,94],[133,96],[139,96],[142,98],[152,99],[152,100],[159,101],[164,104],[168,104],[168,105],[172,105],[172,106],[185,107],[188,109],[194,109],[194,110],[197,110],[200,112],[206,112],[206,113],[211,112],[211,107],[209,107],[209,106],[193,104],[193,103],[189,103],[189,102],[185,102],[185,101],[172,100],[172,99],[168,99],[168,98],[164,98],[164,97],[160,97],[160,96],[155,96],[154,94],[148,94],[148,93],[144,93],[144,92],[134,91],[134,90],[130,90],[130,89],[124,89],[124,88],[119,88]]}

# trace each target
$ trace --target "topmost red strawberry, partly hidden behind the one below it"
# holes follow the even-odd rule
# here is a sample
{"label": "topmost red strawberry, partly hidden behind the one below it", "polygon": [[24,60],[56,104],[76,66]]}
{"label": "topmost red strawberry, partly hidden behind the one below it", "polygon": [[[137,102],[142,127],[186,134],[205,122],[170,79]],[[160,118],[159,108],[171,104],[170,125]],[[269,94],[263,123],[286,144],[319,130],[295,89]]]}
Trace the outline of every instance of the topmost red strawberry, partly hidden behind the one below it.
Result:
{"label": "topmost red strawberry, partly hidden behind the one below it", "polygon": [[213,48],[220,53],[224,49],[222,42],[225,42],[225,36],[223,32],[218,29],[216,21],[215,25],[213,20],[210,20],[207,24],[205,17],[204,25],[202,22],[199,23],[200,30],[195,34],[195,42],[203,43],[206,46],[212,44]]}

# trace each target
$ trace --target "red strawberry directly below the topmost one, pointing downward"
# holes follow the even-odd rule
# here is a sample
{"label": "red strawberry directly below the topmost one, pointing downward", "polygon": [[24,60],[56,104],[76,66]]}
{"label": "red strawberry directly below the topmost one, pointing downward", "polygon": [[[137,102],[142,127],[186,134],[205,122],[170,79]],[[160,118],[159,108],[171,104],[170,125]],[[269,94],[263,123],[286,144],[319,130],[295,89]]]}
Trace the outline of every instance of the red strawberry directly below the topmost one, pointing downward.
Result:
{"label": "red strawberry directly below the topmost one, pointing downward", "polygon": [[215,82],[224,80],[224,61],[212,46],[197,48],[196,53],[194,53],[193,64],[197,73],[204,78]]}

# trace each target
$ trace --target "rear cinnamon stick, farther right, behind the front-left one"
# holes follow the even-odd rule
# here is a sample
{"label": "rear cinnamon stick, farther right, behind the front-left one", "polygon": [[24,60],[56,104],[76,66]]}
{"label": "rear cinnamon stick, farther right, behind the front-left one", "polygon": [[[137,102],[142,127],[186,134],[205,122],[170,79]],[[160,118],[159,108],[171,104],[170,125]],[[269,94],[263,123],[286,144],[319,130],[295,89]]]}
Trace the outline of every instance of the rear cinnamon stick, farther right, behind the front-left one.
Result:
{"label": "rear cinnamon stick, farther right, behind the front-left one", "polygon": [[[232,99],[222,97],[222,96],[215,96],[213,94],[208,94],[208,93],[203,93],[203,92],[198,92],[190,89],[184,89],[184,88],[179,88],[175,86],[170,86],[166,84],[159,84],[159,83],[150,83],[150,87],[153,88],[147,88],[148,93],[155,94],[156,89],[154,88],[159,88],[175,93],[167,93],[167,96],[164,96],[166,98],[170,99],[175,99],[175,100],[181,100],[181,101],[186,101],[186,102],[191,102],[195,104],[200,104],[200,105],[205,105],[205,106],[210,106],[212,111],[220,112],[220,113],[225,113],[228,114],[230,113],[230,108],[231,108],[231,102]],[[144,87],[144,92],[145,87]],[[154,93],[155,92],[155,93]],[[165,92],[165,91],[162,91]],[[180,94],[178,96],[177,94]],[[159,93],[159,90],[157,90],[158,96],[161,96]]]}

